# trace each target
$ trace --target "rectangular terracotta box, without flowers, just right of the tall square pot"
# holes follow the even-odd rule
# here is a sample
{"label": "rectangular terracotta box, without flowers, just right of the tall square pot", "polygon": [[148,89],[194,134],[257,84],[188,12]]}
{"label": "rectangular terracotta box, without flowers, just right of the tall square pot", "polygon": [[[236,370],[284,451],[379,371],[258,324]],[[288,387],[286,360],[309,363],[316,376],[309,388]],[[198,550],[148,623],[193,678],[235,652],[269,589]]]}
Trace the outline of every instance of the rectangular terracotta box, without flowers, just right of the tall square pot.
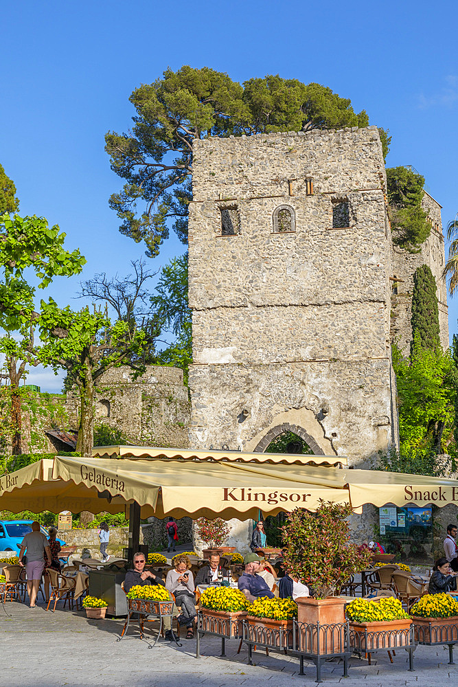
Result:
{"label": "rectangular terracotta box, without flowers, just right of the tall square pot", "polygon": [[[350,646],[356,651],[378,651],[395,646],[410,646],[411,618],[382,622],[350,622]],[[378,634],[378,633],[382,634]]]}

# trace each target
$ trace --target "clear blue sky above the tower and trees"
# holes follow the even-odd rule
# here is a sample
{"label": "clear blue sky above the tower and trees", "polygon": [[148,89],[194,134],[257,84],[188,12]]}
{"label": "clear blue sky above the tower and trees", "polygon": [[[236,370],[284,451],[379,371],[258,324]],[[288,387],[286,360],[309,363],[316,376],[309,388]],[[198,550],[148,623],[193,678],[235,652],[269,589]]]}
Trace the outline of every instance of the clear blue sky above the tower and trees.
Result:
{"label": "clear blue sky above the tower and trees", "polygon": [[[108,196],[122,186],[104,153],[108,130],[128,130],[128,97],[167,67],[208,66],[240,82],[280,74],[318,82],[389,128],[389,166],[413,165],[444,206],[458,212],[457,3],[290,0],[135,3],[112,0],[2,3],[0,162],[21,214],[38,214],[87,257],[82,277],[49,294],[73,301],[81,278],[125,275],[144,249],[118,232]],[[159,269],[183,245],[171,234]],[[450,333],[458,306],[449,301]],[[60,389],[34,370],[29,383]]]}

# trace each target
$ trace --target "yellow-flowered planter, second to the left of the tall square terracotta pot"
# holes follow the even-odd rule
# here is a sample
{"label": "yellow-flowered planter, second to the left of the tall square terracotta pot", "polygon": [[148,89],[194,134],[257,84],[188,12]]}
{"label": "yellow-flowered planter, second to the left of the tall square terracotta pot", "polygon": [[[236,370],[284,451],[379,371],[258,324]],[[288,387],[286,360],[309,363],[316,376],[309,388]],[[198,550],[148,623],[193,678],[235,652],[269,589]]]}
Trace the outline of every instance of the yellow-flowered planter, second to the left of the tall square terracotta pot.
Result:
{"label": "yellow-flowered planter, second to the left of the tall square terracotta pot", "polygon": [[225,637],[241,637],[242,620],[247,618],[249,605],[249,600],[239,589],[208,587],[199,599],[202,629]]}

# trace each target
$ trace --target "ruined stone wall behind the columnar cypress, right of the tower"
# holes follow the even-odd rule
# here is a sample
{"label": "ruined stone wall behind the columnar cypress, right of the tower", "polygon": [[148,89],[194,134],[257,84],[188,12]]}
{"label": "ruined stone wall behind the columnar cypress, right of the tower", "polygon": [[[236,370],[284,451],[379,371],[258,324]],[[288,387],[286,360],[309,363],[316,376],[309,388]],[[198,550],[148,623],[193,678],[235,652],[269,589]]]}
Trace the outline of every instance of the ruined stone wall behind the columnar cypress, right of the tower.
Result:
{"label": "ruined stone wall behind the columnar cypress, right of the tower", "polygon": [[[398,342],[404,354],[410,353],[412,339],[412,291],[413,273],[422,264],[427,264],[435,276],[439,305],[439,327],[442,348],[448,343],[447,286],[442,276],[445,264],[444,236],[442,235],[441,206],[424,192],[423,210],[429,213],[431,234],[422,244],[419,253],[393,245],[393,275],[391,280],[391,341]],[[397,292],[397,293],[396,293]]]}

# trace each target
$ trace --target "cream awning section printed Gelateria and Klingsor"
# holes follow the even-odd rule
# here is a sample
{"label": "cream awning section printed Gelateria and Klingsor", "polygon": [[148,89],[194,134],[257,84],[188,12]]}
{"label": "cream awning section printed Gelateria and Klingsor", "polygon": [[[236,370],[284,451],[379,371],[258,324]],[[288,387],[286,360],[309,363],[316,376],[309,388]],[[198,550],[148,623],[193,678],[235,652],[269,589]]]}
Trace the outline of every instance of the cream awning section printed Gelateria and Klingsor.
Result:
{"label": "cream awning section printed Gelateria and Klingsor", "polygon": [[54,461],[54,477],[95,486],[113,496],[132,499],[134,481],[142,514],[151,506],[157,517],[246,519],[257,517],[258,509],[271,515],[297,506],[315,510],[323,498],[349,502],[347,491],[310,485],[302,471],[304,466],[271,463],[63,457]]}

